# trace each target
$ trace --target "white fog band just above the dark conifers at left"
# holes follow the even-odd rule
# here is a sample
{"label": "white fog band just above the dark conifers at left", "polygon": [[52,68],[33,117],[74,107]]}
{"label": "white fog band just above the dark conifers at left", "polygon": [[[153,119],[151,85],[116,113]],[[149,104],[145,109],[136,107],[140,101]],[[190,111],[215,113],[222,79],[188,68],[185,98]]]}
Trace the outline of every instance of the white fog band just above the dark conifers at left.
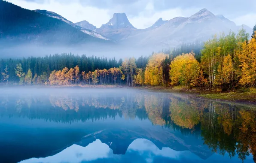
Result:
{"label": "white fog band just above the dark conifers at left", "polygon": [[22,57],[43,57],[46,54],[86,54],[88,56],[107,57],[116,59],[126,57],[140,57],[152,54],[152,51],[161,51],[162,48],[158,47],[131,47],[122,45],[74,45],[74,46],[61,46],[61,45],[0,45],[0,58],[22,58]]}

